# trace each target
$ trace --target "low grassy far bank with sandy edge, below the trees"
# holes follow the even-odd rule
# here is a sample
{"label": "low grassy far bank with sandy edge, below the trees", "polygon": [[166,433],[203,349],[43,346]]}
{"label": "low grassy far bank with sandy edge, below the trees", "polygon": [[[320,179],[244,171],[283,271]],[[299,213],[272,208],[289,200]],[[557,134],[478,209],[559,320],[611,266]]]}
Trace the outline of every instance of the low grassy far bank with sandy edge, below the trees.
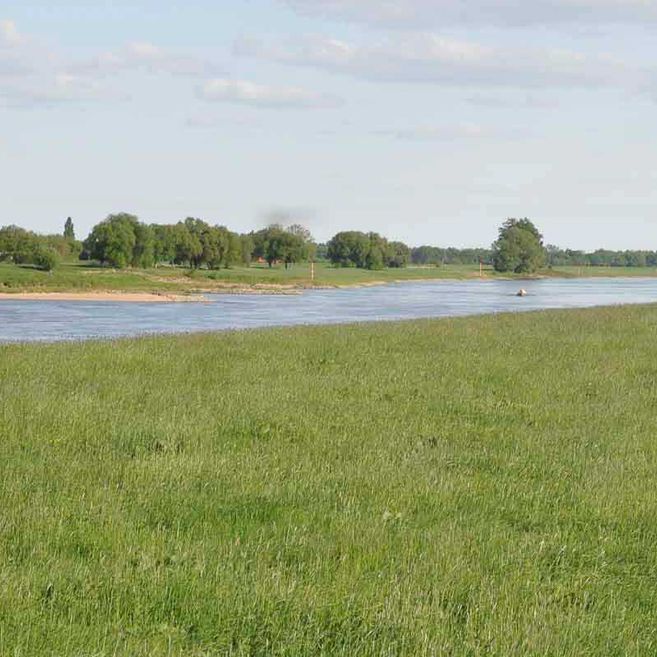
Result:
{"label": "low grassy far bank with sandy edge, below the trees", "polygon": [[[492,268],[486,268],[487,278],[497,277]],[[563,267],[542,272],[543,276],[655,276],[654,268],[612,267]],[[316,265],[316,286],[367,285],[399,280],[467,279],[477,278],[475,265],[446,265],[444,267],[408,267],[367,271],[364,269],[339,269],[320,263]],[[508,278],[508,276],[506,276]],[[307,264],[296,265],[288,270],[266,265],[235,267],[221,271],[188,270],[159,267],[149,270],[112,270],[83,263],[64,263],[52,273],[32,267],[0,263],[0,292],[157,292],[194,293],[198,291],[237,290],[270,286],[308,287],[310,269]]]}

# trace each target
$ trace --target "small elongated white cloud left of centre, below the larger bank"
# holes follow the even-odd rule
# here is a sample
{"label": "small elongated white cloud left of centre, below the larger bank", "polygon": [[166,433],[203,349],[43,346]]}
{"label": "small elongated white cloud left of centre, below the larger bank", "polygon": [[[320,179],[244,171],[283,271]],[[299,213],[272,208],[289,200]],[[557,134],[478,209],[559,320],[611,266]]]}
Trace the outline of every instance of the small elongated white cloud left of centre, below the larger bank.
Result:
{"label": "small elongated white cloud left of centre, below the larger bank", "polygon": [[199,88],[198,94],[203,100],[267,108],[329,108],[340,104],[339,99],[328,94],[298,87],[271,87],[244,80],[210,80]]}

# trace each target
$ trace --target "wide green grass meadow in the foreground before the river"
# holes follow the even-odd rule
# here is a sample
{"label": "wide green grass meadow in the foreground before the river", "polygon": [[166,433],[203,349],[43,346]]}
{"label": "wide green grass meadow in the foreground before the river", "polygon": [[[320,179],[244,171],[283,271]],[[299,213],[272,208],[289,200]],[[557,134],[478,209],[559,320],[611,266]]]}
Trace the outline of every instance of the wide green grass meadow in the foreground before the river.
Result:
{"label": "wide green grass meadow in the foreground before the river", "polygon": [[657,307],[0,347],[0,654],[650,655]]}

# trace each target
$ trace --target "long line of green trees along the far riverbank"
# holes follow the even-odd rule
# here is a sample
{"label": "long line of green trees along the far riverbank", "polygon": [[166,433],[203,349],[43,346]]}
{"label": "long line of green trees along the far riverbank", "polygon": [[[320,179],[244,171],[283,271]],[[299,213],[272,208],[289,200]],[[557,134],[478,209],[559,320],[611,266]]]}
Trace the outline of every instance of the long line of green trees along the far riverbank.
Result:
{"label": "long line of green trees along the far riverbank", "polygon": [[559,266],[657,267],[657,251],[598,249],[587,253],[545,246],[538,228],[527,218],[507,219],[488,249],[410,248],[379,233],[361,231],[342,231],[327,243],[317,244],[300,224],[271,224],[239,234],[194,217],[175,224],[146,224],[128,213],[109,215],[84,241],[76,239],[70,217],[58,235],[38,235],[14,225],[0,228],[0,261],[51,270],[62,258],[71,257],[120,269],[160,264],[222,269],[248,266],[254,260],[285,268],[310,260],[362,269],[482,263],[515,273]]}

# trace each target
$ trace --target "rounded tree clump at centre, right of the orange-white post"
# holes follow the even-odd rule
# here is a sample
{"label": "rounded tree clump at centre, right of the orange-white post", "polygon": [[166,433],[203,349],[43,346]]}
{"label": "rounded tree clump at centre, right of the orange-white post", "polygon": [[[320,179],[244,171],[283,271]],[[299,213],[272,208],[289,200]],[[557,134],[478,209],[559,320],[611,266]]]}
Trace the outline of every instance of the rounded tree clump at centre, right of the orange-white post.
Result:
{"label": "rounded tree clump at centre, right of the orange-white post", "polygon": [[352,230],[338,233],[328,242],[326,257],[338,267],[406,267],[410,249],[402,242],[389,242],[378,233]]}

